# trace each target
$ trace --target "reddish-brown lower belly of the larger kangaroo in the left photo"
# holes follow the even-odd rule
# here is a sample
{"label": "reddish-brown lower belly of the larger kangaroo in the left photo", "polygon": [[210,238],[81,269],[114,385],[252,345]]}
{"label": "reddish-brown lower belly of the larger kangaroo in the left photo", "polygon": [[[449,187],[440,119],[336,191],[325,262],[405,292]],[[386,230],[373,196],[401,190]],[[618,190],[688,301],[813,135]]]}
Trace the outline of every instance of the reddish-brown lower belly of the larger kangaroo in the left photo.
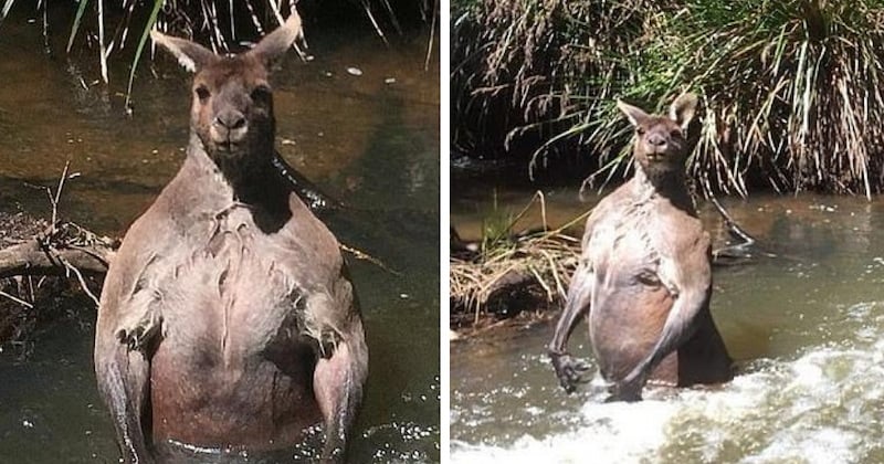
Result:
{"label": "reddish-brown lower belly of the larger kangaroo in the left photo", "polygon": [[154,441],[271,450],[303,439],[319,422],[313,352],[295,347],[285,362],[255,357],[225,366],[209,349],[164,342],[151,363]]}

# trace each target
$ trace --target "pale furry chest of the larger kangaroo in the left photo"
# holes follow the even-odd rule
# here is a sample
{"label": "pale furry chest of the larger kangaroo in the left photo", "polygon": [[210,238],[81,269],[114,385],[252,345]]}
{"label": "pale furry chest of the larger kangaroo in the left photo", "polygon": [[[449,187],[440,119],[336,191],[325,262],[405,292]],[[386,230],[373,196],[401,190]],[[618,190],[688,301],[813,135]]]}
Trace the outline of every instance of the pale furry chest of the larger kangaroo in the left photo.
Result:
{"label": "pale furry chest of the larger kangaroo in the left photo", "polygon": [[231,363],[296,339],[325,283],[308,272],[305,245],[285,236],[262,232],[240,204],[192,223],[159,271],[167,340]]}

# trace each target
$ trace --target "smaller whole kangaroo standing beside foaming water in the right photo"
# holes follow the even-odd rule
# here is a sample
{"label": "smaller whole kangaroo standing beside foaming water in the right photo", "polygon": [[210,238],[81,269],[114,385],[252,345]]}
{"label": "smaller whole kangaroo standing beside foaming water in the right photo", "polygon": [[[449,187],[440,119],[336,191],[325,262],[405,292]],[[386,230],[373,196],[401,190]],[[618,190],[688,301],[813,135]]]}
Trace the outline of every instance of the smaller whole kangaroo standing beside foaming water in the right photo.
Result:
{"label": "smaller whole kangaroo standing beside foaming water in the right photo", "polygon": [[685,129],[696,96],[669,116],[618,102],[635,127],[635,176],[602,199],[586,224],[580,263],[548,352],[572,392],[588,367],[568,355],[568,338],[588,316],[589,336],[613,400],[641,400],[649,379],[672,386],[733,378],[732,360],[709,314],[709,236],[684,178]]}

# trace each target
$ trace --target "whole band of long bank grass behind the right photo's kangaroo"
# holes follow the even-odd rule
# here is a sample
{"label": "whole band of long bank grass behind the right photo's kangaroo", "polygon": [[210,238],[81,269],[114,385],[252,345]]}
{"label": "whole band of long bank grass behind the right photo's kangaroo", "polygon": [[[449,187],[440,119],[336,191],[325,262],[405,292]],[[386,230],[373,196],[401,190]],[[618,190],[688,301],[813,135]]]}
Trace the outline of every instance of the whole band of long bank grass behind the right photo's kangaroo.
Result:
{"label": "whole band of long bank grass behind the right photo's kangaroo", "polygon": [[[688,166],[703,191],[871,196],[884,187],[884,2],[480,0],[452,14],[452,146],[525,157],[533,172],[589,154],[624,172],[613,102],[705,106]],[[586,155],[581,155],[586,156]],[[550,168],[551,167],[551,168]]]}

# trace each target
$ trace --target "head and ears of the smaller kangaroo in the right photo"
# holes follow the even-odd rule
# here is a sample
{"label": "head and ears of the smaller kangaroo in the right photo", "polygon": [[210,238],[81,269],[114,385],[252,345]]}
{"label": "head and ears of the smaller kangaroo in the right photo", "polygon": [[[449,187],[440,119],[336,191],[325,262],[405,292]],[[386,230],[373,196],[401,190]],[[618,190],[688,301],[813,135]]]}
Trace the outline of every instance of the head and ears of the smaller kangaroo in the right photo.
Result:
{"label": "head and ears of the smaller kangaroo in the right photo", "polygon": [[649,176],[681,170],[691,146],[687,143],[687,125],[694,118],[697,97],[684,94],[672,102],[670,114],[649,115],[641,108],[617,102],[635,128],[635,144],[632,152],[639,166]]}

